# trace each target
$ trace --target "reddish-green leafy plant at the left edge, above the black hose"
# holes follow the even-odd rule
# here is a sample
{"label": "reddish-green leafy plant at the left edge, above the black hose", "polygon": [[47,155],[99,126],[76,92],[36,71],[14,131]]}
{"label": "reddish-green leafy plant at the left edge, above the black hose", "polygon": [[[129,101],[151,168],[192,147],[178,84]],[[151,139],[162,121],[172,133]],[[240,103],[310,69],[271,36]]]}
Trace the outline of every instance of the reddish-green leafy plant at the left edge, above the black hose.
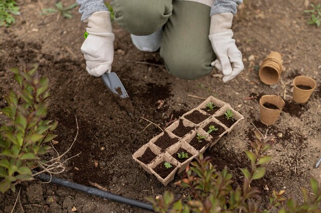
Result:
{"label": "reddish-green leafy plant at the left edge, above the black hose", "polygon": [[40,77],[37,66],[28,68],[21,61],[22,69],[9,69],[18,83],[16,91],[10,89],[7,107],[1,112],[8,121],[0,127],[0,191],[15,189],[21,181],[32,180],[31,169],[45,162],[41,156],[51,146],[47,145],[56,135],[57,121],[45,120],[48,109],[47,77]]}

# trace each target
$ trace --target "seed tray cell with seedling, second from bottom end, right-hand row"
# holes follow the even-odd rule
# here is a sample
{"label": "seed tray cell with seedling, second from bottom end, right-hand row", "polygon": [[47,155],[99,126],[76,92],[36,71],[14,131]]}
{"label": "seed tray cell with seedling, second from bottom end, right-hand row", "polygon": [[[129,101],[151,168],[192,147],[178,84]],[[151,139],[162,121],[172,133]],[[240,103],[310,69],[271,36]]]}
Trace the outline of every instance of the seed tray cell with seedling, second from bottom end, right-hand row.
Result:
{"label": "seed tray cell with seedling, second from bottom end, right-hand row", "polygon": [[[180,141],[171,146],[167,152],[179,162],[180,167],[177,173],[183,172],[186,166],[198,156],[197,150],[185,141]],[[182,152],[185,156],[182,156]]]}

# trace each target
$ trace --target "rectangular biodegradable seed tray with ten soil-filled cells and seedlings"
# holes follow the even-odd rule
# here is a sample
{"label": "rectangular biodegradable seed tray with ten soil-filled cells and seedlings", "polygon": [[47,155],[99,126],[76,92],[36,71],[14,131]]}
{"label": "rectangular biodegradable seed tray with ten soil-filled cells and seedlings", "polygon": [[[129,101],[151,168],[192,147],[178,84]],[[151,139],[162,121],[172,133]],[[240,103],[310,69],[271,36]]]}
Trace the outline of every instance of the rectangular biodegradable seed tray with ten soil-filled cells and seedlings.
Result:
{"label": "rectangular biodegradable seed tray with ten soil-filled cells and seedlings", "polygon": [[[206,108],[206,104],[209,102],[212,102],[213,105],[216,106],[212,111],[208,111]],[[227,122],[225,120],[225,113],[227,110],[231,110],[233,112],[233,121],[228,120]],[[197,115],[199,117],[197,117]],[[210,96],[204,102],[199,104],[198,107],[190,110],[177,121],[173,122],[163,133],[155,136],[147,144],[139,148],[139,150],[133,154],[133,159],[139,163],[146,172],[155,175],[156,178],[166,186],[174,179],[176,173],[183,172],[186,166],[195,157],[199,154],[203,154],[208,147],[213,146],[225,134],[231,132],[242,119],[244,119],[244,117],[239,112],[232,109],[228,103]],[[218,129],[218,132],[208,133],[209,130],[207,130],[206,127],[209,127],[209,124],[214,125],[215,129]],[[166,144],[165,147],[163,146],[164,144],[159,144],[158,140],[160,137],[164,136],[169,136],[172,141],[177,141],[172,144]],[[200,138],[198,136],[203,136],[204,138]],[[173,140],[174,138],[175,140]],[[156,144],[163,147],[159,147],[155,144],[157,140],[158,143]],[[156,157],[146,164],[139,161],[137,158],[142,157],[147,148],[150,148]],[[180,148],[183,148],[191,154],[191,156],[189,156],[184,162],[179,162],[173,157],[177,154],[176,152]],[[154,169],[159,166],[160,163],[164,162],[170,163],[175,168],[171,169],[172,171],[169,175],[166,174],[167,177],[162,178],[154,171]]]}

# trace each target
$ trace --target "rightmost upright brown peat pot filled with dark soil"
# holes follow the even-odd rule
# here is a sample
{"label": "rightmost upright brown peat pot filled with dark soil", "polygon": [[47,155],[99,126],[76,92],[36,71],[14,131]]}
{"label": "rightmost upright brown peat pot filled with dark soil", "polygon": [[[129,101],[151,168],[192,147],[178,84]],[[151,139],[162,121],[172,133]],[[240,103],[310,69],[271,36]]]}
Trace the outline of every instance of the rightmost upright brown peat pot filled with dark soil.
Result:
{"label": "rightmost upright brown peat pot filled with dark soil", "polygon": [[306,103],[316,88],[316,82],[308,76],[296,76],[293,79],[293,101]]}

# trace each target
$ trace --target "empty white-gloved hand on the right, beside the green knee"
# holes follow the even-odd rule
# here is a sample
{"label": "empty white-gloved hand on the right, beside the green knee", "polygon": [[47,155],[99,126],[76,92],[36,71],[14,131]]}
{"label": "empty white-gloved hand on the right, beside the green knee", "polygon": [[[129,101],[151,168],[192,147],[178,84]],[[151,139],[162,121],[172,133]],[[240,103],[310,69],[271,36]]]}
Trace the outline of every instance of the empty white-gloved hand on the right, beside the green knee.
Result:
{"label": "empty white-gloved hand on the right, beside the green knee", "polygon": [[217,56],[211,65],[223,72],[224,82],[233,79],[244,69],[242,53],[237,49],[235,40],[232,38],[232,20],[232,13],[221,13],[211,17],[209,39]]}

